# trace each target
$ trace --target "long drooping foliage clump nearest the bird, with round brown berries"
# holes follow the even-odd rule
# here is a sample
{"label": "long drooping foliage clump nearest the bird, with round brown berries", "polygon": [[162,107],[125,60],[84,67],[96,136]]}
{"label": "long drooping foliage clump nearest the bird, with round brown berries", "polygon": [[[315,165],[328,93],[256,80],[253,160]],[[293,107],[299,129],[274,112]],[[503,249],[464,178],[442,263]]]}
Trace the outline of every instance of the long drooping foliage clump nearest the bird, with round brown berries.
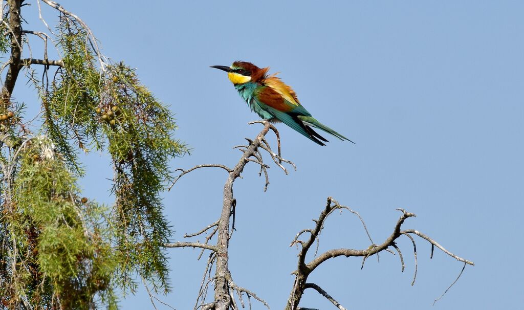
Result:
{"label": "long drooping foliage clump nearest the bird, with round brown berries", "polygon": [[170,179],[168,160],[186,149],[171,137],[176,129],[171,113],[139,84],[134,70],[120,63],[108,71],[113,83],[104,90],[100,118],[107,116],[104,132],[116,167],[117,244],[126,256],[122,279],[138,272],[155,290],[161,287],[167,292],[168,268],[162,245],[169,241],[171,232],[159,192]]}

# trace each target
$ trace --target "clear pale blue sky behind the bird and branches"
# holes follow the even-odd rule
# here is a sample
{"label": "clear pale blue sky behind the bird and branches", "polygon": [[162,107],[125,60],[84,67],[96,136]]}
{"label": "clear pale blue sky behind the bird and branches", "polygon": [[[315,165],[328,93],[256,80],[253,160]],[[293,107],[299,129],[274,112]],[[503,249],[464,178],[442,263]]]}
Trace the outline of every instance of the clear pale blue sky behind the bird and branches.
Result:
{"label": "clear pale blue sky behind the bird and branches", "polygon": [[[310,276],[347,308],[517,308],[524,302],[519,263],[524,216],[524,4],[499,2],[144,2],[63,0],[88,23],[106,56],[137,68],[141,81],[176,113],[176,137],[193,148],[175,168],[234,165],[232,147],[261,129],[225,73],[210,65],[251,61],[280,71],[301,103],[322,123],[356,142],[331,137],[319,147],[277,125],[282,155],[298,171],[272,165],[270,185],[249,165],[235,183],[236,228],[230,269],[238,285],[272,308],[285,305],[296,267],[294,235],[312,227],[326,197],[358,211],[375,242],[389,236],[402,207],[417,214],[404,228],[424,232],[472,260],[462,278],[431,307],[462,268],[417,240],[418,276],[406,260],[383,253],[380,263],[336,258]],[[38,16],[36,5],[25,14]],[[50,24],[56,15],[45,9]],[[34,51],[35,52],[35,51]],[[19,83],[15,96],[36,96]],[[274,139],[270,138],[270,141]],[[269,158],[266,157],[269,163]],[[111,203],[106,156],[85,158],[85,193]],[[166,193],[173,241],[220,215],[226,175],[185,175]],[[319,251],[366,248],[351,214],[328,220]],[[173,292],[160,296],[192,308],[205,265],[197,250],[170,249]],[[157,305],[162,308],[162,305]],[[301,306],[334,308],[314,291]],[[144,291],[122,308],[152,308]],[[263,308],[255,303],[255,309]]]}

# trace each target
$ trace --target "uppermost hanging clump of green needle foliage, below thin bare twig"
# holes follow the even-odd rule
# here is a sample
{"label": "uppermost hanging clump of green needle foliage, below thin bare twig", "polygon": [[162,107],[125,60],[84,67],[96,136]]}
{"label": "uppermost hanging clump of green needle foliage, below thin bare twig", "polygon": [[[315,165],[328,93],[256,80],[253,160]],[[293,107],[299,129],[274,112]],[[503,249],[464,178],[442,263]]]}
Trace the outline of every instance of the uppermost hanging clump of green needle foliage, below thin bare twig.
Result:
{"label": "uppermost hanging clump of green needle foliage, below thin bare twig", "polygon": [[88,151],[89,145],[93,144],[101,148],[100,124],[95,117],[95,108],[100,102],[104,81],[96,68],[93,51],[86,49],[85,31],[68,19],[61,20],[58,43],[63,50],[64,68],[58,69],[50,90],[40,87],[40,92],[47,133],[71,167],[81,172],[77,163],[78,150]]}

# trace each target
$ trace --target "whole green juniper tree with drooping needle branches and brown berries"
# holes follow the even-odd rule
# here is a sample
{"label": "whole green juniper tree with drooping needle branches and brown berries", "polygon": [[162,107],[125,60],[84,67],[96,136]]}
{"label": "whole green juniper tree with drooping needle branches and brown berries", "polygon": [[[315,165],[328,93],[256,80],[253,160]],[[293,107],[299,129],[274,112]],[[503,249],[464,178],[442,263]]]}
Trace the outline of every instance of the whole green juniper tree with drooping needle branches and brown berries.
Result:
{"label": "whole green juniper tree with drooping needle branches and brown berries", "polygon": [[[48,31],[34,31],[26,9],[51,10],[58,24],[40,17]],[[115,292],[134,292],[136,281],[167,292],[171,232],[159,193],[168,161],[187,151],[173,115],[59,4],[7,0],[0,10],[0,307],[116,308]],[[31,50],[35,40],[43,50]],[[26,83],[36,114],[15,99]],[[79,154],[93,150],[111,156],[111,206],[78,185]]]}

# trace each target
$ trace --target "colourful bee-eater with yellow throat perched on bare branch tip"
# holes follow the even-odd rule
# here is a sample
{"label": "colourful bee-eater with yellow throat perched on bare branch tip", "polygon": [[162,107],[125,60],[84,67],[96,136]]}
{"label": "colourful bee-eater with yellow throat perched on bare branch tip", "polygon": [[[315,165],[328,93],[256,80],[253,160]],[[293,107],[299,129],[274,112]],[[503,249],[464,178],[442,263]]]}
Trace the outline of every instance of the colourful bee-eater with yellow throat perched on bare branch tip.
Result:
{"label": "colourful bee-eater with yellow throat perched on bare branch tip", "polygon": [[269,67],[258,68],[250,62],[235,61],[231,67],[213,65],[211,68],[227,72],[227,77],[233,82],[240,96],[261,118],[281,121],[321,146],[325,146],[322,141],[329,141],[310,126],[328,132],[341,140],[353,142],[314,119],[300,104],[297,94],[290,86],[284,84],[276,74],[267,75]]}

